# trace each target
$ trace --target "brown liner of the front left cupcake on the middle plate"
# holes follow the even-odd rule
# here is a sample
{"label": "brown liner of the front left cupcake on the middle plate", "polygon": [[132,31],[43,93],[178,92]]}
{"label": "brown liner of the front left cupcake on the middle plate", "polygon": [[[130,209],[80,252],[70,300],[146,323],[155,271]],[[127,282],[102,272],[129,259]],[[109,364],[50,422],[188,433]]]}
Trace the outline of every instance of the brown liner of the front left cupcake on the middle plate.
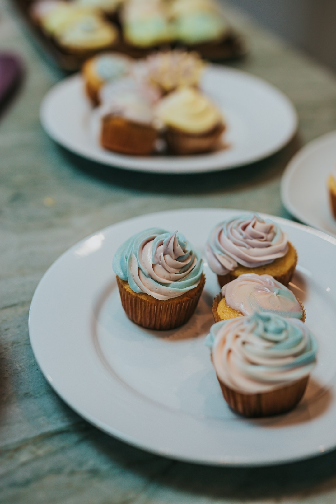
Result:
{"label": "brown liner of the front left cupcake on the middle plate", "polygon": [[105,149],[123,154],[151,154],[157,137],[158,132],[151,125],[113,114],[102,119],[101,144]]}

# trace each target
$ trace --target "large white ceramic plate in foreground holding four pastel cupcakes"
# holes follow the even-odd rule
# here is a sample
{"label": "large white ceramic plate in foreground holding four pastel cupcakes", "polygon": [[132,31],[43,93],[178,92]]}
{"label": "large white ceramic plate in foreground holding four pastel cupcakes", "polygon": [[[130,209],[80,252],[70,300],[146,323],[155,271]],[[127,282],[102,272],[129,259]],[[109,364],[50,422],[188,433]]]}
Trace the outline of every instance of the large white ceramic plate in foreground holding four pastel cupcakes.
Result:
{"label": "large white ceramic plate in foreground holding four pastel cupcakes", "polygon": [[33,351],[50,385],[89,422],[145,450],[213,465],[280,463],[336,446],[335,239],[275,218],[298,250],[292,288],[319,344],[304,399],[286,415],[246,420],[224,401],[204,345],[219,292],[207,266],[199,305],[177,330],[145,330],[121,308],[112,258],[126,238],[159,225],[203,250],[210,226],[239,213],[175,210],[123,221],[70,248],[44,275],[30,308]]}

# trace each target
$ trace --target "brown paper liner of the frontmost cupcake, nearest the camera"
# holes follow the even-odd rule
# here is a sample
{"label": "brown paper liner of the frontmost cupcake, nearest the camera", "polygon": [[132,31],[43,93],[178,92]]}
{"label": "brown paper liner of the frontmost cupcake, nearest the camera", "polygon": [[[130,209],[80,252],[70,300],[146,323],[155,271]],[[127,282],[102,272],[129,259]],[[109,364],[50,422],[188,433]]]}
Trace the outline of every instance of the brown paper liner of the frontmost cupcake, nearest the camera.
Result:
{"label": "brown paper liner of the frontmost cupcake, nearest the camera", "polygon": [[234,411],[245,417],[264,417],[279,415],[293,409],[302,398],[309,376],[282,387],[261,394],[244,394],[224,385],[217,376],[224,399]]}

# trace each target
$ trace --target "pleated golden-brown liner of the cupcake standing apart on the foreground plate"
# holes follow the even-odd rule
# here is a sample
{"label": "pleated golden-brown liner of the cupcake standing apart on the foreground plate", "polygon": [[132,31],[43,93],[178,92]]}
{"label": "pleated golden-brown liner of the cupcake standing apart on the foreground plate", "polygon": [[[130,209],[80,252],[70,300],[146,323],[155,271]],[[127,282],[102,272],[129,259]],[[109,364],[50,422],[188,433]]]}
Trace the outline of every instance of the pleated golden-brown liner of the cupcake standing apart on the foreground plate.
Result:
{"label": "pleated golden-brown liner of the cupcake standing apart on the foreground plate", "polygon": [[185,324],[194,312],[206,283],[202,274],[194,289],[166,301],[160,301],[148,294],[133,292],[128,282],[117,276],[121,304],[127,317],[147,329],[166,331]]}

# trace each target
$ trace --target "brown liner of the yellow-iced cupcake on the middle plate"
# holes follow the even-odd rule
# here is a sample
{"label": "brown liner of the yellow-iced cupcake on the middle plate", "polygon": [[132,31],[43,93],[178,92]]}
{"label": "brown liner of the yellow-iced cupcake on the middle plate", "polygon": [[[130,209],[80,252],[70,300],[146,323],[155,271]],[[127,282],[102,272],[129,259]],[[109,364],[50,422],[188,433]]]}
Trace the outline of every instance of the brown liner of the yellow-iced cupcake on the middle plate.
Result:
{"label": "brown liner of the yellow-iced cupcake on the middle plate", "polygon": [[211,131],[204,134],[189,134],[176,128],[168,128],[166,141],[169,149],[175,154],[197,154],[213,150],[219,137],[225,130],[223,123],[218,124]]}

